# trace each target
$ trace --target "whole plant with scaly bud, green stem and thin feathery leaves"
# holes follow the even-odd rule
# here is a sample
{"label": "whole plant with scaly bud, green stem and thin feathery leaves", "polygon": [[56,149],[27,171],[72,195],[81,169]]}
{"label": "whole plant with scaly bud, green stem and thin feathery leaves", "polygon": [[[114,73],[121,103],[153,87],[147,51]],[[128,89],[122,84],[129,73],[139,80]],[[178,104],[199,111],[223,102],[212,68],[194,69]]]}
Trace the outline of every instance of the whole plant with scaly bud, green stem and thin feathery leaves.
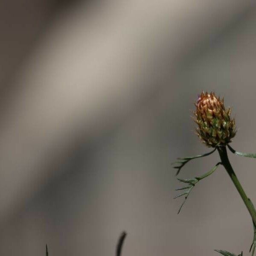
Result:
{"label": "whole plant with scaly bud, green stem and thin feathery leaves", "polygon": [[[185,200],[180,206],[181,207],[185,204],[186,199],[189,196],[189,193],[195,187],[195,184],[198,183],[200,180],[211,175],[219,165],[224,166],[228,175],[230,176],[231,180],[233,181],[236,189],[238,190],[239,194],[241,195],[242,200],[244,201],[245,206],[250,213],[250,216],[253,221],[253,243],[250,247],[251,255],[254,255],[255,248],[256,248],[256,210],[253,206],[253,203],[247,197],[242,188],[236,174],[230,164],[230,161],[227,156],[227,148],[233,153],[238,156],[242,157],[252,157],[256,158],[256,154],[247,154],[241,153],[234,150],[229,144],[232,141],[232,138],[236,135],[236,125],[235,119],[231,118],[231,109],[224,107],[224,99],[220,99],[219,97],[215,96],[215,93],[204,93],[202,92],[200,96],[198,96],[198,100],[195,103],[196,110],[194,111],[194,121],[198,125],[196,128],[196,133],[200,140],[207,146],[213,148],[212,151],[206,154],[196,155],[194,157],[183,157],[178,158],[177,162],[173,163],[174,168],[177,169],[176,175],[179,174],[180,169],[188,163],[190,160],[199,158],[199,157],[206,157],[216,150],[220,156],[220,162],[216,163],[216,165],[204,175],[199,177],[194,177],[192,179],[178,179],[180,182],[184,183],[185,185],[181,188],[176,190],[182,190],[183,192],[180,195],[177,195],[175,198],[184,196]],[[180,209],[178,213],[180,212]],[[221,253],[224,256],[236,256],[233,253],[229,253],[224,250],[216,250],[217,252]],[[239,256],[241,256],[239,254]]]}

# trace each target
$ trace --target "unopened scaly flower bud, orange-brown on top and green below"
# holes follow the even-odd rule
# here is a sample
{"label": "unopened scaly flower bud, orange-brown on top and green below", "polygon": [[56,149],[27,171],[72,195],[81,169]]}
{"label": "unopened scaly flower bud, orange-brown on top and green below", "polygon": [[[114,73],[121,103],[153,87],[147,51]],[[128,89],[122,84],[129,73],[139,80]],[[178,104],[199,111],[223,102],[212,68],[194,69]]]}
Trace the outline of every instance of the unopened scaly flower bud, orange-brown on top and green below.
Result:
{"label": "unopened scaly flower bud, orange-brown on top and green below", "polygon": [[236,135],[235,119],[230,117],[231,109],[224,107],[224,99],[215,93],[204,93],[195,104],[196,133],[208,147],[224,146]]}

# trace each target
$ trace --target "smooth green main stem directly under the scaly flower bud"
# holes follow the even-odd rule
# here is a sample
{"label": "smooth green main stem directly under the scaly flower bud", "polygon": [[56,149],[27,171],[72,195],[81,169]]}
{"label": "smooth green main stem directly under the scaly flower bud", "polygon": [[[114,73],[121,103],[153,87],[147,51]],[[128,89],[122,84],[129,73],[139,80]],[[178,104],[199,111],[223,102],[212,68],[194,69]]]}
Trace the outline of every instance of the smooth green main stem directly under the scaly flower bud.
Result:
{"label": "smooth green main stem directly under the scaly flower bud", "polygon": [[227,170],[228,175],[230,176],[231,180],[233,181],[234,185],[236,186],[236,189],[238,190],[239,194],[241,195],[241,198],[244,201],[244,204],[246,205],[248,211],[250,212],[250,215],[253,219],[253,223],[256,224],[256,211],[255,208],[253,207],[252,202],[250,199],[247,197],[247,195],[244,192],[244,189],[242,188],[238,178],[236,177],[236,174],[230,164],[230,161],[227,157],[227,149],[225,146],[218,147],[218,152],[221,157],[221,163]]}

